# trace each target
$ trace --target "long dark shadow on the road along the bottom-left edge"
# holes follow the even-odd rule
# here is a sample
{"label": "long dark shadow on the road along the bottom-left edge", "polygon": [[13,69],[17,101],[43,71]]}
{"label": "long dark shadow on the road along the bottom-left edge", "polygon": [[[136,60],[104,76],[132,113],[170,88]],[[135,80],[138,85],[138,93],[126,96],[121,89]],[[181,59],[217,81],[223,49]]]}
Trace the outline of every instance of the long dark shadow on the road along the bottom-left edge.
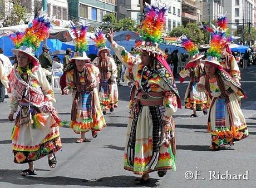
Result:
{"label": "long dark shadow on the road along the bottom-left edge", "polygon": [[[40,169],[36,169],[40,171]],[[134,184],[135,176],[111,176],[102,177],[101,179],[85,180],[74,177],[53,176],[37,177],[20,175],[22,170],[0,170],[0,182],[7,182],[14,185],[78,185],[90,187],[137,187]],[[42,170],[43,171],[43,170]],[[48,171],[48,170],[47,170]],[[37,174],[39,174],[37,172]],[[156,187],[158,179],[151,179],[146,187]]]}

